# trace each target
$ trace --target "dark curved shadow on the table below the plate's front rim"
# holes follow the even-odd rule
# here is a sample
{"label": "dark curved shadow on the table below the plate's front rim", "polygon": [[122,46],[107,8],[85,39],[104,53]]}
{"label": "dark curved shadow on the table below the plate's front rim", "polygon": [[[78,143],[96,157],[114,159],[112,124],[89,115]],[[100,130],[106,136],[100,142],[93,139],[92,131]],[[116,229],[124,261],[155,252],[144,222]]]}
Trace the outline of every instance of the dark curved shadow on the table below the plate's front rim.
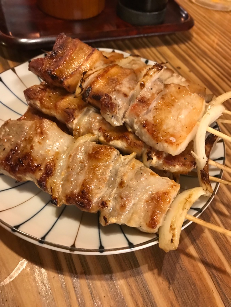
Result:
{"label": "dark curved shadow on the table below the plate's front rim", "polygon": [[153,278],[158,274],[171,284],[175,278],[179,278],[179,275],[190,274],[187,266],[195,265],[196,267],[198,262],[208,270],[216,270],[228,276],[228,272],[219,265],[204,260],[198,250],[192,253],[190,247],[193,250],[196,249],[197,239],[203,233],[202,227],[195,229],[196,227],[195,224],[190,225],[182,231],[180,247],[169,253],[165,253],[158,245],[154,245],[143,250],[118,255],[75,255],[34,245],[3,228],[0,231],[0,240],[11,251],[35,266],[58,274],[71,275],[72,278],[85,279],[87,276],[89,280],[105,280],[105,278],[110,279],[114,276],[117,280],[131,277],[142,279],[145,273],[152,272]]}

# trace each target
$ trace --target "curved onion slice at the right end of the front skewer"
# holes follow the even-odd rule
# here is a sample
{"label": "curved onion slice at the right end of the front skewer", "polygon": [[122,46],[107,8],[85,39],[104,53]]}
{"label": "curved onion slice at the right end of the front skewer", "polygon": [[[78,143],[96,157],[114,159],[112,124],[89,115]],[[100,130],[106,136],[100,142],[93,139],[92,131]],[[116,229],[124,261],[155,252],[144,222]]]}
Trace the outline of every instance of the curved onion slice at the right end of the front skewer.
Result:
{"label": "curved onion slice at the right end of the front skewer", "polygon": [[166,213],[163,225],[159,228],[160,248],[166,252],[177,249],[184,218],[193,203],[204,194],[203,188],[196,187],[186,190],[175,197]]}

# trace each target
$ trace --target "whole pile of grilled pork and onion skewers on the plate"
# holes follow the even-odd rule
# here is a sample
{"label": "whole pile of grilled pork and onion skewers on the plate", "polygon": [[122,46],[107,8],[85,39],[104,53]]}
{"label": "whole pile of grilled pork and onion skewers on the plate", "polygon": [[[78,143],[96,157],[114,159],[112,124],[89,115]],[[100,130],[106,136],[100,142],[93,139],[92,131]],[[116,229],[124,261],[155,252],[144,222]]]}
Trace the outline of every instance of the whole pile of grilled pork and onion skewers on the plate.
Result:
{"label": "whole pile of grilled pork and onion skewers on the plate", "polygon": [[[29,70],[46,82],[24,92],[44,115],[29,108],[2,125],[0,171],[34,181],[56,206],[100,211],[102,225],[160,229],[160,247],[175,249],[188,209],[212,193],[207,161],[217,137],[205,141],[205,132],[224,111],[221,99],[206,106],[211,97],[203,87],[162,64],[101,52],[64,34]],[[149,169],[188,173],[196,162],[202,188],[179,195],[179,184]]]}

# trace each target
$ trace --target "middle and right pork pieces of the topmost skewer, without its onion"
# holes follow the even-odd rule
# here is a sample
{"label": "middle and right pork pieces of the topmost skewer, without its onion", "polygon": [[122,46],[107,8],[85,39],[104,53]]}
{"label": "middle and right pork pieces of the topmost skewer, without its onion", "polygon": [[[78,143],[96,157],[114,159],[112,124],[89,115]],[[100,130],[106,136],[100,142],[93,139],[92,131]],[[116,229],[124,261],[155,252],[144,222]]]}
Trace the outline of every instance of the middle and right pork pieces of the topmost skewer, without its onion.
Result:
{"label": "middle and right pork pieces of the topmost skewer, without its onion", "polygon": [[148,68],[136,87],[131,74],[129,78],[122,74],[124,69],[111,65],[87,72],[76,95],[81,94],[83,100],[99,108],[111,125],[126,122],[156,150],[173,156],[181,153],[196,134],[205,100],[190,90],[190,84],[186,87],[182,77],[160,64]]}

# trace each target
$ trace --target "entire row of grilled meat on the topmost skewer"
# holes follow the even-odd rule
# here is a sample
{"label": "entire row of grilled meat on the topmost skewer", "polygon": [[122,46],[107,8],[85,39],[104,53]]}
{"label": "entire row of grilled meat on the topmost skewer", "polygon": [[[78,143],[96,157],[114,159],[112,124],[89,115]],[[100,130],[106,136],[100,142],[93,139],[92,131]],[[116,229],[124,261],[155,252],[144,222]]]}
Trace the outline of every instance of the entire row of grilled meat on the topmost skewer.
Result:
{"label": "entire row of grilled meat on the topmost skewer", "polygon": [[[69,45],[72,46],[72,48],[69,48]],[[73,47],[74,46],[74,47]],[[77,46],[77,47],[76,47]],[[80,46],[80,48],[79,48]],[[83,50],[81,50],[81,48]],[[71,51],[70,51],[71,50]],[[87,51],[88,50],[88,51]],[[71,52],[71,53],[70,53]],[[165,147],[166,152],[171,153],[172,155],[175,155],[178,151],[181,151],[185,145],[187,144],[187,142],[193,137],[193,134],[195,134],[195,131],[197,130],[196,126],[195,126],[195,117],[191,120],[190,115],[193,114],[193,109],[194,107],[197,107],[197,112],[200,112],[200,108],[198,108],[198,103],[199,106],[201,107],[201,109],[203,109],[203,105],[204,105],[204,100],[202,105],[200,105],[200,100],[198,99],[197,95],[194,95],[195,93],[198,93],[199,96],[202,96],[205,98],[205,91],[201,91],[198,87],[192,86],[192,84],[189,82],[187,82],[186,80],[184,80],[182,77],[174,74],[173,72],[171,72],[171,70],[165,69],[163,67],[161,67],[162,65],[156,64],[151,68],[149,68],[147,70],[147,72],[144,74],[142,80],[139,82],[138,86],[136,87],[135,90],[133,90],[133,94],[131,94],[131,92],[128,91],[128,88],[131,89],[134,86],[134,74],[132,73],[133,69],[129,70],[128,67],[128,63],[127,66],[124,66],[124,70],[122,68],[120,68],[120,66],[118,66],[119,62],[123,62],[123,61],[128,61],[126,59],[123,59],[123,57],[118,56],[117,61],[115,61],[117,55],[115,55],[115,53],[113,54],[113,56],[109,56],[109,57],[105,57],[102,60],[102,56],[100,56],[98,54],[98,56],[96,56],[94,59],[94,61],[89,61],[89,59],[92,60],[91,54],[92,54],[92,50],[91,48],[89,49],[89,46],[82,44],[79,44],[78,40],[73,40],[70,38],[65,37],[64,35],[60,35],[57,43],[54,46],[53,52],[51,52],[51,54],[49,54],[45,59],[39,59],[39,60],[33,60],[30,63],[30,67],[29,69],[32,70],[33,72],[35,72],[37,75],[40,75],[44,80],[46,80],[47,82],[49,82],[50,84],[56,84],[59,86],[64,86],[63,84],[67,81],[67,83],[69,82],[72,86],[74,84],[74,82],[72,82],[73,80],[73,76],[77,76],[79,77],[79,72],[83,71],[83,68],[88,67],[90,69],[90,72],[83,72],[83,78],[80,82],[80,90],[83,91],[83,96],[85,97],[85,99],[88,99],[89,96],[91,96],[91,99],[95,99],[96,102],[98,100],[98,104],[101,105],[100,100],[102,101],[102,106],[103,108],[101,108],[101,112],[106,115],[106,117],[111,118],[112,121],[117,121],[118,120],[121,122],[122,120],[125,120],[128,122],[129,125],[132,126],[132,129],[136,131],[136,134],[139,134],[141,136],[142,134],[142,139],[145,140],[146,143],[148,143],[149,145],[153,142],[153,140],[155,140],[155,138],[159,138],[159,142],[157,142],[156,140],[156,147],[155,145],[152,144],[152,146],[157,149],[160,150],[161,148],[163,149]],[[93,52],[94,53],[94,52]],[[96,54],[97,52],[95,52]],[[74,56],[73,56],[74,54]],[[83,54],[85,54],[85,56],[83,56]],[[72,57],[72,61],[74,61],[75,63],[69,63],[69,57]],[[111,60],[110,60],[111,57]],[[97,59],[96,59],[97,58]],[[134,61],[134,59],[133,59]],[[60,63],[64,63],[64,65],[60,65]],[[107,64],[109,64],[109,67],[106,67]],[[117,63],[116,63],[117,62]],[[86,64],[87,63],[87,64]],[[115,63],[115,64],[113,64]],[[137,62],[138,63],[138,62]],[[121,64],[123,65],[123,64]],[[59,66],[59,69],[57,69],[57,66]],[[114,70],[114,72],[118,72],[121,71],[121,76],[113,76],[113,73],[110,75],[110,72],[112,72]],[[141,70],[140,70],[141,71]],[[106,75],[109,77],[109,80],[112,81],[111,84],[107,84],[107,79],[106,78],[106,85],[104,85],[103,87],[103,92],[101,93],[97,93],[97,88],[100,90],[100,83],[104,84],[105,82],[105,73]],[[136,74],[136,73],[135,73]],[[101,80],[95,80],[95,78],[97,79],[97,76],[100,75],[101,76]],[[152,76],[151,76],[152,75]],[[150,78],[151,76],[151,78]],[[161,76],[161,78],[160,78]],[[136,76],[138,78],[138,75]],[[116,81],[117,79],[120,79],[120,82],[118,84],[118,82]],[[77,77],[75,77],[75,82],[77,81]],[[99,78],[100,79],[100,78]],[[53,80],[55,80],[53,82]],[[91,86],[88,86],[91,82],[93,82],[94,84],[94,88],[96,89],[95,94],[94,91],[92,92],[92,88]],[[98,85],[97,85],[98,82]],[[113,84],[115,84],[118,86],[115,90],[115,86],[113,87]],[[126,85],[129,83],[128,88],[126,87]],[[147,83],[149,84],[149,86],[147,86]],[[161,90],[161,83],[162,83],[162,87],[164,88],[163,90]],[[154,100],[151,100],[151,104],[150,104],[150,97],[153,98],[152,96],[152,91],[153,91],[153,87],[150,87],[150,85],[154,84],[155,85],[155,90],[154,90],[154,94],[157,95],[157,97],[154,97]],[[180,94],[176,92],[176,85],[180,85],[180,87],[177,89],[181,89]],[[65,85],[66,86],[66,85]],[[87,88],[84,90],[84,86]],[[75,87],[75,86],[73,86]],[[162,91],[161,93],[159,93],[159,90]],[[70,88],[69,88],[70,90]],[[106,90],[106,91],[105,91]],[[79,91],[79,89],[77,90],[77,92]],[[142,94],[142,91],[144,93],[144,95]],[[188,91],[191,93],[188,93]],[[91,93],[90,93],[91,92]],[[195,93],[194,93],[195,92]],[[114,93],[112,96],[109,94]],[[90,95],[91,94],[91,95]],[[100,94],[100,95],[99,95]],[[101,95],[102,94],[102,95]],[[137,96],[139,96],[140,94],[141,97],[140,99],[138,99],[137,101]],[[228,95],[229,93],[227,93]],[[190,98],[190,95],[193,95],[193,99],[189,99],[189,105],[186,107],[186,112],[185,110],[183,110],[183,108],[177,109],[177,106],[179,107],[179,100],[182,101],[182,97],[184,95],[187,96],[187,98]],[[225,94],[225,97],[227,96]],[[130,109],[132,108],[134,115],[136,116],[126,116],[123,119],[124,116],[124,111],[128,105],[127,100],[125,99],[128,96],[127,100],[130,100],[129,97],[131,98],[131,102],[132,105],[129,107],[128,111],[131,111]],[[143,97],[144,96],[144,97]],[[161,97],[160,97],[161,96]],[[169,97],[168,97],[169,96]],[[189,96],[189,97],[188,97]],[[124,98],[125,97],[125,98]],[[163,100],[167,98],[173,98],[172,100],[175,100],[175,104],[173,104],[176,108],[174,109],[174,106],[171,106],[171,99],[168,99],[168,102],[170,103],[170,107],[168,105],[168,111],[171,110],[171,107],[173,107],[173,111],[176,111],[174,114],[174,116],[177,117],[176,122],[178,122],[178,120],[180,119],[180,124],[183,125],[184,130],[182,135],[179,133],[177,133],[177,131],[179,132],[179,129],[177,130],[177,125],[174,125],[174,116],[172,116],[172,113],[174,112],[169,112],[170,114],[170,119],[173,122],[173,125],[171,125],[170,128],[174,127],[175,130],[173,131],[173,135],[170,135],[172,133],[172,131],[169,131],[169,122],[171,122],[171,120],[167,121],[163,121],[161,122],[162,119],[162,115],[160,114],[161,112],[159,112],[160,110],[158,110],[158,108],[156,108],[155,104],[158,105],[158,101],[157,98],[160,98],[161,102],[163,103]],[[227,96],[228,97],[228,96]],[[228,98],[225,98],[228,99]],[[164,98],[164,99],[163,99]],[[191,97],[192,98],[192,97]],[[112,100],[113,101],[112,101]],[[144,106],[144,112],[142,113],[141,118],[143,117],[143,119],[145,119],[145,121],[141,121],[140,123],[140,114],[139,116],[137,116],[138,113],[137,112],[138,109],[141,107],[142,109],[142,103],[140,104],[140,102],[142,102],[142,100],[146,101],[148,100],[148,103],[146,103],[146,106]],[[184,99],[183,99],[184,100]],[[186,99],[187,100],[187,99]],[[120,101],[125,103],[120,103]],[[112,103],[111,103],[112,102]],[[115,102],[115,103],[114,103]],[[202,102],[202,101],[201,101]],[[193,103],[196,105],[194,105],[193,107]],[[154,108],[153,108],[154,105]],[[145,112],[145,107],[147,108],[148,106],[148,110],[146,110]],[[193,107],[192,110],[190,110],[190,107]],[[142,111],[142,110],[141,110]],[[189,116],[185,116],[185,114],[188,114]],[[192,111],[192,112],[191,112]],[[112,113],[111,113],[112,112]],[[152,118],[152,113],[154,112],[154,114],[156,115],[157,112],[157,118],[156,118],[156,122],[153,123]],[[181,113],[179,113],[181,112]],[[182,113],[183,112],[183,113]],[[128,112],[127,112],[128,113]],[[147,114],[146,114],[147,113]],[[162,112],[163,113],[163,112]],[[203,112],[202,112],[203,113]],[[146,115],[149,114],[148,119],[146,119]],[[131,113],[132,115],[132,113]],[[177,116],[179,115],[179,116]],[[198,116],[198,118],[201,117],[201,114],[196,114],[196,116]],[[184,122],[185,118],[189,119],[189,121]],[[166,116],[164,116],[164,119],[166,119]],[[184,119],[182,121],[182,119]],[[132,121],[132,122],[130,122]],[[167,123],[167,127],[164,126],[164,129],[167,129],[165,132],[165,134],[163,133],[162,135],[158,135],[158,129],[161,127],[163,128],[162,124],[166,124]],[[117,124],[114,122],[114,124]],[[119,124],[119,123],[118,123]],[[180,125],[178,125],[180,126]],[[188,127],[189,126],[189,127]],[[179,128],[179,127],[178,127]],[[164,132],[163,129],[163,132]],[[187,130],[187,131],[186,131]],[[180,131],[181,132],[181,131]],[[176,136],[176,138],[175,138]],[[153,138],[154,137],[154,138]],[[179,139],[178,139],[179,137]],[[149,143],[150,141],[150,143]],[[197,145],[196,145],[197,146]],[[195,145],[194,145],[195,147]],[[203,146],[202,146],[203,147]],[[197,150],[196,150],[197,151]],[[197,153],[196,153],[197,155]],[[196,157],[195,155],[195,157]],[[197,155],[198,156],[198,155]],[[199,156],[198,156],[199,157]],[[197,158],[197,157],[196,157]],[[198,162],[199,162],[199,167],[202,169],[203,168],[203,163],[201,163],[200,161],[201,158],[199,158]],[[205,154],[203,159],[205,159]]]}

